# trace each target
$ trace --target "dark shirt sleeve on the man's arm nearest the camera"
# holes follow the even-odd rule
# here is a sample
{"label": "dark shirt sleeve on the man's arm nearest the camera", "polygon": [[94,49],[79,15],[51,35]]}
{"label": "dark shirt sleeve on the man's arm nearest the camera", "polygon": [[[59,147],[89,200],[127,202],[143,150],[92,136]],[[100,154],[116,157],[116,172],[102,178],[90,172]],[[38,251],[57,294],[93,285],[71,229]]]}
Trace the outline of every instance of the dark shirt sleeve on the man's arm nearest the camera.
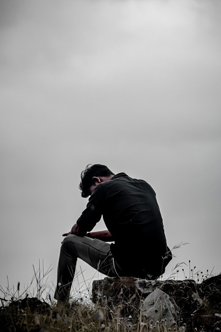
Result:
{"label": "dark shirt sleeve on the man's arm nearest the camera", "polygon": [[105,200],[105,189],[102,185],[97,185],[90,196],[85,210],[77,220],[77,225],[82,231],[90,232],[100,220]]}

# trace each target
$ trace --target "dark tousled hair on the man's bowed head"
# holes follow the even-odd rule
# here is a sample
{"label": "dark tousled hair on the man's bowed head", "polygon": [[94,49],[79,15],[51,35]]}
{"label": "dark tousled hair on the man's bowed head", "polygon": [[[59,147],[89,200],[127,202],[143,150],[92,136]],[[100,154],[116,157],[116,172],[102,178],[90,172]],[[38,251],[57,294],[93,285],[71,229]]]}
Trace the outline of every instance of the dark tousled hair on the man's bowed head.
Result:
{"label": "dark tousled hair on the man's bowed head", "polygon": [[88,189],[94,184],[94,181],[92,180],[94,176],[108,176],[111,174],[115,175],[107,166],[100,164],[88,164],[81,172],[81,182],[79,185],[79,189],[82,191],[81,196],[86,198],[90,195],[90,193],[88,193]]}

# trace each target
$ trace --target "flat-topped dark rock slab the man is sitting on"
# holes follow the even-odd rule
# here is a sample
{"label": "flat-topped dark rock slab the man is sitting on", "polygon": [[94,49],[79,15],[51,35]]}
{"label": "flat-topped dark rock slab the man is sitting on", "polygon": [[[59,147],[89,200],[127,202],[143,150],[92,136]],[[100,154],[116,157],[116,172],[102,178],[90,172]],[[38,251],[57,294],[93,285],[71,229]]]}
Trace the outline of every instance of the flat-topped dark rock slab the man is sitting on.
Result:
{"label": "flat-topped dark rock slab the man is sitting on", "polygon": [[120,302],[136,308],[140,299],[145,299],[157,288],[171,296],[180,308],[181,313],[189,315],[203,305],[196,283],[192,280],[144,280],[133,277],[106,277],[93,281],[92,301],[102,305],[118,305]]}

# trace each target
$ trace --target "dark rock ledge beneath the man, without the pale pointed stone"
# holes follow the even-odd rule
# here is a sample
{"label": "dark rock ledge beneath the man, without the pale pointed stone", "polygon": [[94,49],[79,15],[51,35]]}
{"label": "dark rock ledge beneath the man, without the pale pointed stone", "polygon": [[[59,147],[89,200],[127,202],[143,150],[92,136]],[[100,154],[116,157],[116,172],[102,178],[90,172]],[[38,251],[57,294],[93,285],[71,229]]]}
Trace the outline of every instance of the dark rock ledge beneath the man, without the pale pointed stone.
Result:
{"label": "dark rock ledge beneath the man, without the pale pointed stone", "polygon": [[92,301],[101,306],[119,305],[121,314],[129,316],[142,306],[149,294],[158,289],[168,294],[179,307],[180,326],[184,324],[190,331],[193,326],[197,330],[204,327],[205,331],[221,329],[221,275],[208,278],[200,284],[193,280],[107,277],[93,282]]}

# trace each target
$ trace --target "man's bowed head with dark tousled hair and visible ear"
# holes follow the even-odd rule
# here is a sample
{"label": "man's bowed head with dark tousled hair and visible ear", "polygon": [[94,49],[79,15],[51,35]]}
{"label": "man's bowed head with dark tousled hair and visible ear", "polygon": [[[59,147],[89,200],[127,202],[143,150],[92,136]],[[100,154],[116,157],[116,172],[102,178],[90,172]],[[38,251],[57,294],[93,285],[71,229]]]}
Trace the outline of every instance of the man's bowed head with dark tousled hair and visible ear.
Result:
{"label": "man's bowed head with dark tousled hair and visible ear", "polygon": [[93,190],[103,181],[110,180],[115,174],[107,166],[94,164],[87,165],[81,172],[81,182],[79,189],[82,191],[82,197],[88,197]]}

